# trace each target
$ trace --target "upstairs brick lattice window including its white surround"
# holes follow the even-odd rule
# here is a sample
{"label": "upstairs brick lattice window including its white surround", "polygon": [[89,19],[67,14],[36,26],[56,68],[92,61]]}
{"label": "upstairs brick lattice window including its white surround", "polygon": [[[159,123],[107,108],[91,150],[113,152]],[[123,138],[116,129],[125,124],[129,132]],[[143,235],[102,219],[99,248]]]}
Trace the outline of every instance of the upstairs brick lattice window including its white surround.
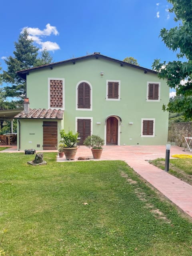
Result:
{"label": "upstairs brick lattice window including its white surround", "polygon": [[49,107],[64,108],[64,79],[49,78]]}

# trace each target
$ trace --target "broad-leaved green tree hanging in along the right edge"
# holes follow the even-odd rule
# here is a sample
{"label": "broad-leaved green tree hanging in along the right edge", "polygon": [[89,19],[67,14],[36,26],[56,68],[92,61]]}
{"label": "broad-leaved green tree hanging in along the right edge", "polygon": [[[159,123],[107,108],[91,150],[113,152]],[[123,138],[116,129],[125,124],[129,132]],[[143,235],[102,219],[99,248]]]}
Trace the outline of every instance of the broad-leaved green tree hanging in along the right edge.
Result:
{"label": "broad-leaved green tree hanging in along the right edge", "polygon": [[[177,26],[167,30],[162,28],[160,37],[166,46],[173,52],[177,52],[178,60],[172,62],[160,62],[154,60],[152,68],[158,72],[159,78],[167,78],[168,86],[176,90],[179,96],[170,101],[163,110],[177,109],[175,112],[184,111],[187,117],[190,105],[192,104],[192,1],[191,0],[168,0],[172,4],[170,13],[175,14],[174,21]],[[182,60],[179,60],[183,58]],[[173,103],[174,102],[174,103]],[[173,109],[172,109],[173,110]],[[192,112],[190,111],[190,118]]]}

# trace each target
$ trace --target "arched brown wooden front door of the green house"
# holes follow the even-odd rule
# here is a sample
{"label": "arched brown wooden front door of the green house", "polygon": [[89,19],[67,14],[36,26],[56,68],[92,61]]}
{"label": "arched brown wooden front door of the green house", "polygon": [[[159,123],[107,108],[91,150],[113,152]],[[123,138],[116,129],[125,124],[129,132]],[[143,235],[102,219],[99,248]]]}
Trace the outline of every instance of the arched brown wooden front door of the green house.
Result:
{"label": "arched brown wooden front door of the green house", "polygon": [[107,119],[107,145],[117,145],[118,144],[118,120],[117,118],[111,116]]}

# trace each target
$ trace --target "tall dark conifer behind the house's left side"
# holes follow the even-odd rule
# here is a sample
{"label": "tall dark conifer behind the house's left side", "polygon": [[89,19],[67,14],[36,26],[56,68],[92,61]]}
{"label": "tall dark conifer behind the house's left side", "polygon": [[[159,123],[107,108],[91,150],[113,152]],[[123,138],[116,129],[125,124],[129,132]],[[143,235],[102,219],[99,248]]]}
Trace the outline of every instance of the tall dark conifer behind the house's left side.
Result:
{"label": "tall dark conifer behind the house's left side", "polygon": [[9,56],[5,60],[8,68],[7,71],[3,71],[2,80],[11,84],[4,87],[6,97],[22,99],[26,92],[25,82],[16,74],[16,71],[33,67],[39,49],[33,45],[33,40],[29,38],[26,29],[19,35],[18,42],[15,42],[14,45],[14,56]]}

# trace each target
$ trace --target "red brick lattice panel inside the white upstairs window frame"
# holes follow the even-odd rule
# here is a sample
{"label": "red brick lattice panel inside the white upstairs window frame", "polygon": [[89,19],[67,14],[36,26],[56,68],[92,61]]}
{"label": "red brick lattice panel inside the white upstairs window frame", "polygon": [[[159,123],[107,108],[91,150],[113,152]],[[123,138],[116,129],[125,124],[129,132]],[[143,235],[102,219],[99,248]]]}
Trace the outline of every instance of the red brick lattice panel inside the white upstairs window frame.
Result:
{"label": "red brick lattice panel inside the white upstairs window frame", "polygon": [[50,107],[63,107],[63,81],[50,80]]}

